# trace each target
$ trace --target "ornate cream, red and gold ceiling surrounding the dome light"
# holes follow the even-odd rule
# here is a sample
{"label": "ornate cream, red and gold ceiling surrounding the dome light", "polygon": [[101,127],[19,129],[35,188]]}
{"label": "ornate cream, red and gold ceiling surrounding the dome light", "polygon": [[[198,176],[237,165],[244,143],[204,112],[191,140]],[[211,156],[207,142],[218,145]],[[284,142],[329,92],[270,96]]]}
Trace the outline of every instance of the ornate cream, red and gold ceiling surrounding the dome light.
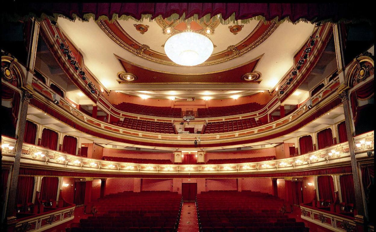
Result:
{"label": "ornate cream, red and gold ceiling surrounding the dome light", "polygon": [[[304,22],[277,25],[253,20],[223,25],[211,20],[187,25],[160,17],[141,23],[131,19],[96,23],[59,18],[58,26],[82,53],[86,68],[108,90],[133,94],[166,89],[252,94],[273,89],[291,69],[294,55],[314,29],[313,24]],[[174,64],[163,48],[169,36],[187,27],[207,35],[215,45],[209,59],[193,67]],[[214,91],[214,95],[217,93],[218,97],[226,96]],[[153,91],[148,95],[161,97]]]}

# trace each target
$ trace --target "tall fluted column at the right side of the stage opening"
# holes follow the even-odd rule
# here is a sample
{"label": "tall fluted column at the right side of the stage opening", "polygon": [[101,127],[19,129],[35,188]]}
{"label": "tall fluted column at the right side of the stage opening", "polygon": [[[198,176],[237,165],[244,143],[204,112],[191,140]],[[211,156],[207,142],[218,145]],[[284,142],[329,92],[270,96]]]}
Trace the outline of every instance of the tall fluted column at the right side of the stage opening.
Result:
{"label": "tall fluted column at the right side of the stage opening", "polygon": [[349,104],[349,94],[347,90],[344,90],[339,94],[339,97],[342,100],[343,103],[343,109],[345,114],[345,122],[346,122],[346,135],[347,140],[349,140],[349,152],[350,152],[350,158],[351,158],[351,167],[352,167],[352,175],[354,179],[354,189],[355,189],[355,204],[356,204],[356,210],[357,215],[355,215],[355,218],[358,221],[363,222],[364,216],[365,216],[365,205],[364,205],[364,199],[363,199],[363,190],[361,185],[361,179],[359,176],[359,168],[358,164],[356,164],[356,158],[355,158],[355,141],[354,141],[354,129],[352,128],[352,119],[351,119],[351,109]]}

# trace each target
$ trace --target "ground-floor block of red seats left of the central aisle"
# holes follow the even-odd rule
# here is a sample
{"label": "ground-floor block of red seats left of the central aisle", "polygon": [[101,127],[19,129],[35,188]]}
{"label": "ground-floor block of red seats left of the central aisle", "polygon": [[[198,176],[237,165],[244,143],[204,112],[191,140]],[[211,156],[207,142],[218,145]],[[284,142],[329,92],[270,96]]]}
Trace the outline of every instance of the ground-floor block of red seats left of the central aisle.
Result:
{"label": "ground-floor block of red seats left of the central aisle", "polygon": [[73,223],[71,231],[176,232],[182,197],[170,191],[124,191],[102,197],[91,206],[99,214]]}

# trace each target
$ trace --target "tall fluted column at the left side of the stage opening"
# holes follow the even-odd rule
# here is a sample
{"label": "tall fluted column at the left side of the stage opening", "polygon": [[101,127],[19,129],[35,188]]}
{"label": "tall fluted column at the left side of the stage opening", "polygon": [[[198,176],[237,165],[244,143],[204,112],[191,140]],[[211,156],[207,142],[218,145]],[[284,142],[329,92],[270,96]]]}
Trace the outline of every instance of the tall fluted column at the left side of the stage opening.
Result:
{"label": "tall fluted column at the left side of the stage opening", "polygon": [[32,94],[27,91],[23,92],[22,95],[22,102],[20,106],[20,118],[18,118],[18,132],[16,133],[16,144],[15,144],[15,160],[14,166],[12,168],[12,172],[10,174],[11,183],[9,184],[9,191],[8,191],[8,202],[6,206],[6,217],[7,220],[14,220],[15,217],[15,201],[16,201],[16,194],[17,194],[17,182],[18,182],[18,172],[20,170],[20,159],[22,153],[22,144],[25,132],[25,125],[26,125],[26,115],[27,115],[27,106],[29,105],[30,99],[32,98]]}

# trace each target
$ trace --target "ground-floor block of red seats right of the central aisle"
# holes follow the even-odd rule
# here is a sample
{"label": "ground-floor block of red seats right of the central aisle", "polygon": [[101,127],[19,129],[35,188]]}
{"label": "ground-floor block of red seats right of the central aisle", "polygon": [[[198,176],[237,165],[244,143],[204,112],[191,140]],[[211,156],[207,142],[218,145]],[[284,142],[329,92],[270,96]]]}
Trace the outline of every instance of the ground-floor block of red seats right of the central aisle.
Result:
{"label": "ground-floor block of red seats right of the central aisle", "polygon": [[208,191],[196,196],[200,232],[308,231],[304,223],[280,211],[283,205],[278,197],[252,191]]}

